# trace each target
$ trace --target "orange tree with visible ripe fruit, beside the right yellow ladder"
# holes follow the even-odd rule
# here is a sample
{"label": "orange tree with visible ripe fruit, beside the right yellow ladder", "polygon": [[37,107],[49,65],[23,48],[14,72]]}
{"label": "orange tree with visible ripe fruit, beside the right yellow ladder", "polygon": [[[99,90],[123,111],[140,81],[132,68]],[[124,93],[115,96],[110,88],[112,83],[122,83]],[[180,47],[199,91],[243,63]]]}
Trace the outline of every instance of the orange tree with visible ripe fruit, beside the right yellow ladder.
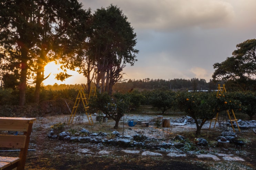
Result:
{"label": "orange tree with visible ripe fruit, beside the right yellow ladder", "polygon": [[196,123],[196,136],[201,133],[204,123],[212,119],[218,110],[215,92],[178,92],[176,106],[191,116]]}

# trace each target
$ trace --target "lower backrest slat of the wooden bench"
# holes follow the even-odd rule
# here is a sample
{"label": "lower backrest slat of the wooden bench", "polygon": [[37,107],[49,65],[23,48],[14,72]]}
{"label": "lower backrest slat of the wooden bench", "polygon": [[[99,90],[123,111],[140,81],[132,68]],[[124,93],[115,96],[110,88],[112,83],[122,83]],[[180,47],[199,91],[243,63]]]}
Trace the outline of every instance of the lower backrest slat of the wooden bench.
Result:
{"label": "lower backrest slat of the wooden bench", "polygon": [[24,148],[26,136],[0,135],[0,148]]}

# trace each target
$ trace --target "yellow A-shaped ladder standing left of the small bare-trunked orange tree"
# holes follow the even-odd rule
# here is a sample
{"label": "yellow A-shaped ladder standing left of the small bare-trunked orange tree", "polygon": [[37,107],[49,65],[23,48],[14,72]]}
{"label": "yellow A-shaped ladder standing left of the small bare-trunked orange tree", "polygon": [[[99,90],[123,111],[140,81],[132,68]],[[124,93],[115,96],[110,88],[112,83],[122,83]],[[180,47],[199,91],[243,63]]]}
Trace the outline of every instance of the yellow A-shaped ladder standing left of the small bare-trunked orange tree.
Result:
{"label": "yellow A-shaped ladder standing left of the small bare-trunked orange tree", "polygon": [[[80,100],[82,100],[82,102],[83,102],[85,114],[87,115],[89,124],[93,125],[93,120],[92,120],[91,113],[90,113],[90,115],[88,115],[88,113],[87,113],[87,109],[89,108],[89,106],[88,106],[88,102],[87,102],[85,94],[84,94],[84,88],[80,88],[79,89],[78,95],[77,95],[77,97],[75,99],[75,104],[74,104],[73,110],[72,110],[71,115],[69,117],[68,125],[70,123],[71,124],[73,123],[73,120],[74,120],[74,117],[75,117],[75,113],[76,113],[76,110],[77,110],[77,108],[79,106]],[[90,119],[91,119],[91,121],[90,121]]]}

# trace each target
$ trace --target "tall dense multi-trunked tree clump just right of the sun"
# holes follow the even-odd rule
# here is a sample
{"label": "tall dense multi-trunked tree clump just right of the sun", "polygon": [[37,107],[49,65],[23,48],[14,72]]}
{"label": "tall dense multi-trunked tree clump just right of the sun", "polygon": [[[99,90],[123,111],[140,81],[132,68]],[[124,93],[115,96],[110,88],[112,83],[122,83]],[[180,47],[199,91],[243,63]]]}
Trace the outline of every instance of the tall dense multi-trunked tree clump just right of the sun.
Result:
{"label": "tall dense multi-trunked tree clump just right of the sun", "polygon": [[101,92],[112,93],[113,85],[123,78],[127,63],[134,65],[136,33],[117,6],[97,9],[93,14],[88,54],[93,56],[95,83]]}

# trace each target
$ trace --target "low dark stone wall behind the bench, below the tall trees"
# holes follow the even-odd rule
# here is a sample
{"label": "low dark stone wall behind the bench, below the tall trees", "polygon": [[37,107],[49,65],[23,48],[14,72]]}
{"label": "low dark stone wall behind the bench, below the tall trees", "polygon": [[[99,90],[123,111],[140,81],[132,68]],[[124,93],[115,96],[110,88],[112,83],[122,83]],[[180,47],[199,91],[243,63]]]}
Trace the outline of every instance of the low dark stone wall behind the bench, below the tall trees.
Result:
{"label": "low dark stone wall behind the bench, below the tall trees", "polygon": [[74,102],[59,98],[56,100],[42,101],[39,104],[29,104],[24,106],[19,105],[1,105],[0,117],[36,117],[56,114],[70,114],[69,108],[72,111]]}

